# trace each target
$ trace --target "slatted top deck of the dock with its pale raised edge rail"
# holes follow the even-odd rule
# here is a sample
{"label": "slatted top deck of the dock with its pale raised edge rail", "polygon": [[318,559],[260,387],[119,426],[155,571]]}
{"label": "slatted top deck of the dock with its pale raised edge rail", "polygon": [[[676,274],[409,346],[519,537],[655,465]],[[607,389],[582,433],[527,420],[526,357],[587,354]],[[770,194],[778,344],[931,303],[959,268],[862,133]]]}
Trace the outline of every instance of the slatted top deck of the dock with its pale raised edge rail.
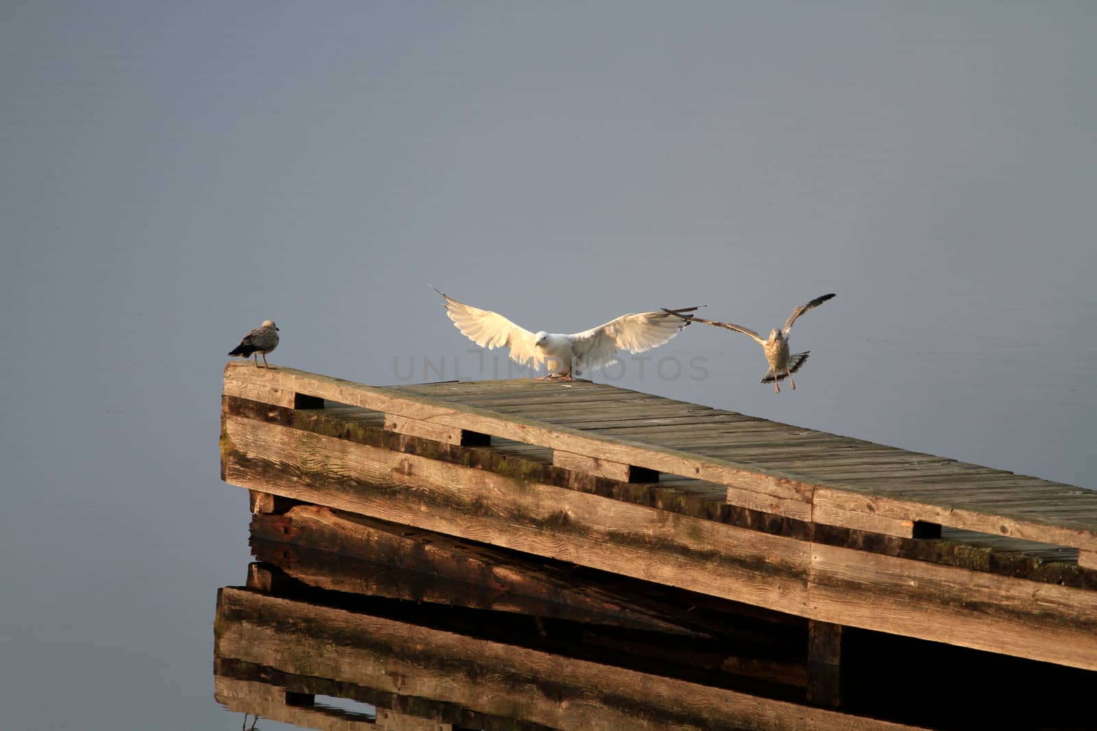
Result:
{"label": "slatted top deck of the dock with its pale raised edge rail", "polygon": [[[575,385],[574,392],[557,388],[558,385],[541,389],[528,381],[385,389],[292,368],[265,370],[248,368],[247,365],[235,363],[226,367],[226,393],[241,388],[238,384],[263,386],[382,411],[436,427],[491,434],[570,453],[588,460],[701,479],[725,486],[730,504],[798,521],[812,519],[814,498],[819,519],[841,519],[845,527],[906,536],[912,532],[916,534],[916,525],[925,523],[1097,550],[1097,495],[1073,486],[1055,486],[976,465],[942,460],[932,455],[914,455],[789,424],[751,420],[733,412],[667,402],[604,385]],[[519,403],[489,408],[467,406],[460,402],[466,398],[463,396],[466,392],[478,395],[476,398],[485,403],[500,398],[505,403],[516,400]],[[588,397],[597,397],[604,403],[584,410],[583,399]],[[538,407],[541,411],[530,412],[522,406],[529,400],[538,404],[544,402],[544,406]],[[606,410],[607,418],[612,418],[614,413],[633,414],[634,418],[691,413],[703,414],[706,419],[711,416],[714,421],[708,425],[697,424],[692,442],[675,441],[674,431],[658,429],[625,430],[624,435],[615,435],[617,430],[613,429],[575,429],[567,425],[566,419],[564,423],[552,423],[553,419],[568,413],[559,411],[561,407],[575,411],[579,421],[572,423],[584,426],[592,423],[580,416],[580,412],[588,416],[601,416],[602,410]],[[542,413],[544,420],[530,419],[529,413]],[[725,419],[732,421],[717,423]],[[701,436],[712,429],[720,434]],[[735,446],[721,446],[725,437],[732,439]],[[715,442],[704,446],[697,438]],[[895,458],[894,469],[883,462],[873,467],[874,459],[860,467],[856,461],[847,462],[848,469],[835,469],[837,466],[827,468],[821,464],[818,477],[812,477],[814,468],[798,455],[816,454],[824,446],[835,454],[848,454],[855,459],[862,453],[886,453]],[[620,471],[623,468],[613,469]],[[845,478],[838,479],[841,476]],[[1004,483],[1007,478],[1008,483]],[[981,492],[972,493],[971,500],[958,502],[958,490],[962,490],[962,486],[957,480],[968,481]],[[999,483],[1019,491],[1042,491],[1041,495],[1062,495],[1068,504],[1063,503],[1054,510],[1041,505],[1036,510],[1033,506],[1040,503],[1039,500],[1016,502],[1010,500],[1009,492],[995,494],[989,490]],[[919,491],[924,494],[918,494]],[[911,494],[904,494],[907,492]]]}

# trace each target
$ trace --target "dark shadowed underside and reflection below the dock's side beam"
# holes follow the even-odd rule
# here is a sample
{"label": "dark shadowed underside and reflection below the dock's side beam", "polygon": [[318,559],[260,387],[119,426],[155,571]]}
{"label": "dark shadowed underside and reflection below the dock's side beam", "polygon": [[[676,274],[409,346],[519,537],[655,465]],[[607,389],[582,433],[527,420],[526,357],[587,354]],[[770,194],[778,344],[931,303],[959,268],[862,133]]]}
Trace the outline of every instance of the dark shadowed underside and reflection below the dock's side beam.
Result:
{"label": "dark shadowed underside and reflection below the dock's side beam", "polygon": [[[252,728],[1051,729],[1085,712],[1081,671],[847,629],[839,678],[808,665],[802,618],[327,509],[258,514],[251,546],[247,586],[217,595],[214,673]],[[1022,678],[1058,705],[1004,708]]]}

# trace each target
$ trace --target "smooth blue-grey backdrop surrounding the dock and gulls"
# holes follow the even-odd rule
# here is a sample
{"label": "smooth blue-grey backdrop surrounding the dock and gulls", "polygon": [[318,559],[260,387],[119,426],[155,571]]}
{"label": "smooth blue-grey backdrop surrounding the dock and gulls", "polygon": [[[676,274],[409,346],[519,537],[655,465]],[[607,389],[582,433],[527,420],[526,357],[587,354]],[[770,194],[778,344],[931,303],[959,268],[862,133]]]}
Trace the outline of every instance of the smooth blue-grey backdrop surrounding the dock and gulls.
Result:
{"label": "smooth blue-grey backdrop surrounding the dock and gulls", "polygon": [[563,332],[836,292],[795,392],[701,327],[614,382],[1097,488],[1095,37],[1089,2],[2,3],[0,708],[235,728],[224,354],[271,318],[275,364],[489,377],[428,283]]}

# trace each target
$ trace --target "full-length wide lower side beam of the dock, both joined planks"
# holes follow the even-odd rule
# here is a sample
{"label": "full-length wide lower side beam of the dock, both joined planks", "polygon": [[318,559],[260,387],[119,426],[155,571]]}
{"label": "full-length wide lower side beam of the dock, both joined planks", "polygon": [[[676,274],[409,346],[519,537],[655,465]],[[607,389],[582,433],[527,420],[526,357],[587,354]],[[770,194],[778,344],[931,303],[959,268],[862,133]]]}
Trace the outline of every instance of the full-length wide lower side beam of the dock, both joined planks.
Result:
{"label": "full-length wide lower side beam of the dock, both joined planks", "polygon": [[807,544],[231,415],[224,432],[226,479],[241,487],[823,621],[1097,670],[1097,592]]}

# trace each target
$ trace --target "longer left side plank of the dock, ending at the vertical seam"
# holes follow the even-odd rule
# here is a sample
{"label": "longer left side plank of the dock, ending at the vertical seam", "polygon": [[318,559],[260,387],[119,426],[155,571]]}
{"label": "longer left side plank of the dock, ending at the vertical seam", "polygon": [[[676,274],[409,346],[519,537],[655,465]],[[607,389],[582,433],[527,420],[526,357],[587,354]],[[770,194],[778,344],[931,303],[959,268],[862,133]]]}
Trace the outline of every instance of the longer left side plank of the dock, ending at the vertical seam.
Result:
{"label": "longer left side plank of the dock, ending at the vertical seam", "polygon": [[233,484],[803,612],[807,545],[792,538],[233,415],[224,433]]}

